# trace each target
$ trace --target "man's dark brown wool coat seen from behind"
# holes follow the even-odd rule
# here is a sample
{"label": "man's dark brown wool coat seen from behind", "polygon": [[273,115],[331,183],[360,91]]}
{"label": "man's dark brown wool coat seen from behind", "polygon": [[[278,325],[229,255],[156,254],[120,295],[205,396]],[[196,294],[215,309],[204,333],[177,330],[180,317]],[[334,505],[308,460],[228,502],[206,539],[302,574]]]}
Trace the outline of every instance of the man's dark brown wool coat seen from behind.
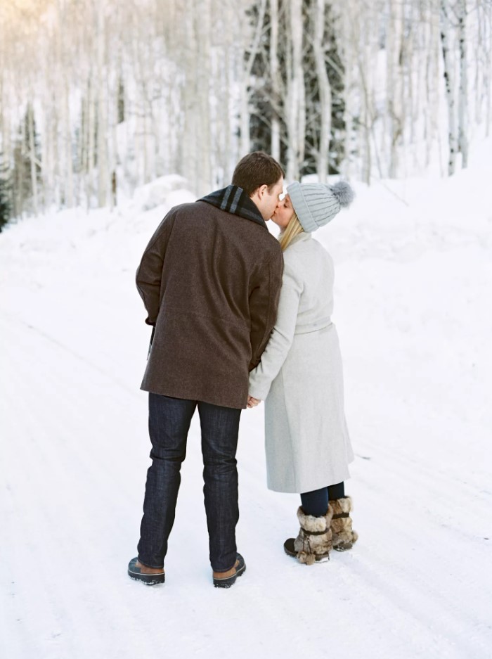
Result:
{"label": "man's dark brown wool coat seen from behind", "polygon": [[276,321],[283,256],[265,226],[204,201],[172,208],[136,284],[155,335],[141,388],[245,408]]}

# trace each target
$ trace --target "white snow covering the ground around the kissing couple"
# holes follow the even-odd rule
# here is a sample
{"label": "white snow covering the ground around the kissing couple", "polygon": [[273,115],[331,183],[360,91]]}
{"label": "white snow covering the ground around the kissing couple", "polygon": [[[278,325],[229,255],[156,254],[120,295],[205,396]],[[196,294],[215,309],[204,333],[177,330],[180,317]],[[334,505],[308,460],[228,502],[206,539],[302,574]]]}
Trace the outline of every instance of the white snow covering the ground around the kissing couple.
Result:
{"label": "white snow covering the ground around the kissing couple", "polygon": [[246,410],[247,572],[230,590],[212,587],[197,419],[167,581],[126,573],[150,449],[134,271],[191,198],[183,181],[1,234],[2,657],[490,657],[490,146],[452,179],[357,185],[316,235],[335,260],[360,539],[310,568],[283,554],[298,499],[266,490],[263,406]]}

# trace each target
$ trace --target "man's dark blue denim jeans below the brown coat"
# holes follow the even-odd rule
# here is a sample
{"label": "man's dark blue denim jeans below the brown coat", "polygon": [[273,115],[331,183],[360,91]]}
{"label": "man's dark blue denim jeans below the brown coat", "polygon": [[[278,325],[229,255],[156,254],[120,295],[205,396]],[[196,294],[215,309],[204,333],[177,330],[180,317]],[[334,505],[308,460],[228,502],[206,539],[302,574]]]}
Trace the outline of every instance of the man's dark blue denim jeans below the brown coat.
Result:
{"label": "man's dark blue denim jeans below the brown coat", "polygon": [[138,560],[150,568],[164,565],[167,539],[174,524],[181,463],[186,457],[186,439],[197,407],[202,429],[203,493],[210,563],[213,570],[222,572],[232,568],[236,561],[235,526],[239,507],[235,452],[241,410],[151,393],[152,464],[147,472],[138,543]]}

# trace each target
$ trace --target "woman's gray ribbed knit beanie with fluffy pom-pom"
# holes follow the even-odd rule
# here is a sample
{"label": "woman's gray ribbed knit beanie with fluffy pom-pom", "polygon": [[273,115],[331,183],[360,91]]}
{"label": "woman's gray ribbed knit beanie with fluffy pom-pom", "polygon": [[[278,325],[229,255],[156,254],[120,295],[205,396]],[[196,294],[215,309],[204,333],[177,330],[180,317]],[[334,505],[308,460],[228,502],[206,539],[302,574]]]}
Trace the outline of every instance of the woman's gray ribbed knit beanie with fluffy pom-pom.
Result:
{"label": "woman's gray ribbed knit beanie with fluffy pom-pom", "polygon": [[298,183],[287,186],[294,211],[304,231],[316,231],[333,219],[340,208],[354,200],[354,191],[345,181],[334,186],[324,183]]}

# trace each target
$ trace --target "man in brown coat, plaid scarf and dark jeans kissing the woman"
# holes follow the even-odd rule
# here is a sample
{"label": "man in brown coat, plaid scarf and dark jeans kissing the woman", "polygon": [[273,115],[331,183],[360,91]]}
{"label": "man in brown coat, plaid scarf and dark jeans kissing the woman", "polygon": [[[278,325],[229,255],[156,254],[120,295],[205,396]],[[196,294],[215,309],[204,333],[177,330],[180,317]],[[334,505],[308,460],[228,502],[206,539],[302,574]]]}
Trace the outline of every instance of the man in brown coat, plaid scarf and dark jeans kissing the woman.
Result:
{"label": "man in brown coat, plaid scarf and dark jeans kissing the woman", "polygon": [[164,582],[186,437],[198,407],[210,563],[216,587],[245,571],[235,544],[235,452],[248,375],[276,321],[280,245],[266,228],[283,169],[261,151],[242,158],[232,185],[172,208],[143,254],[136,283],[153,340],[142,389],[149,392],[148,469],[138,557],[130,577]]}

